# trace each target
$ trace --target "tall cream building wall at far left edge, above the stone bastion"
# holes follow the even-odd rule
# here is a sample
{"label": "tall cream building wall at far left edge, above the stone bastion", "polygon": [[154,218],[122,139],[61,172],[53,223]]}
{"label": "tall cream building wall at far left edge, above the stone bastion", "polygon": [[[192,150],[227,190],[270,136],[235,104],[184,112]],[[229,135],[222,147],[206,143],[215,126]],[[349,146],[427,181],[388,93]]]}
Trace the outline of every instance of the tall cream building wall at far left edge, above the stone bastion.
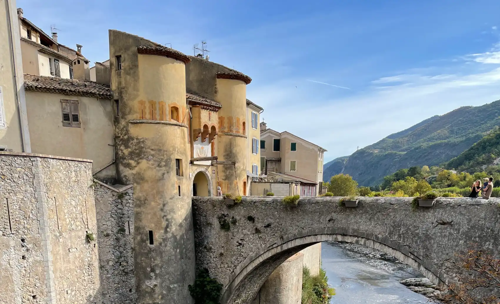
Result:
{"label": "tall cream building wall at far left edge, above the stone bastion", "polygon": [[[13,6],[13,9],[10,7],[10,15],[11,28],[14,33],[14,25],[17,25],[17,15],[12,15],[12,11],[15,12],[15,1],[9,2],[9,4]],[[3,124],[0,124],[0,148],[22,152],[21,128],[12,69],[12,51],[9,47],[8,23],[5,21],[7,20],[5,1],[0,2],[0,20],[0,113],[3,114],[4,120]],[[14,36],[13,39],[18,39],[18,37]]]}

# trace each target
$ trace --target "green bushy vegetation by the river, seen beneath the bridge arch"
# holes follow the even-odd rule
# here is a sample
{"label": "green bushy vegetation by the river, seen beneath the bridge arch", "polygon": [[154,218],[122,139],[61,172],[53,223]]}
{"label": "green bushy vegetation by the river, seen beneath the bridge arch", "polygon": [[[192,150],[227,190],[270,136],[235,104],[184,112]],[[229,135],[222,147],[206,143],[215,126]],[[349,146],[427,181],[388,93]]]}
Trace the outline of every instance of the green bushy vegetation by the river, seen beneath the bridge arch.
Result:
{"label": "green bushy vegetation by the river, seen beneath the bridge arch", "polygon": [[321,268],[317,276],[311,276],[307,267],[302,269],[302,304],[329,304],[335,290],[328,287],[328,278]]}

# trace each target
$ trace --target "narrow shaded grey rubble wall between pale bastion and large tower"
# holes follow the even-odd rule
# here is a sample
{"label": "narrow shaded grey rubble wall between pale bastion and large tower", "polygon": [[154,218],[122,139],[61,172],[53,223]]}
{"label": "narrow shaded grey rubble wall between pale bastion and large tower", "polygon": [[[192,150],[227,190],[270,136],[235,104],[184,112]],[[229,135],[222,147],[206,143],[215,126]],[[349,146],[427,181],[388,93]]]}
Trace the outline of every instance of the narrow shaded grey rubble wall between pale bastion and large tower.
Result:
{"label": "narrow shaded grey rubble wall between pale bastion and large tower", "polygon": [[94,180],[103,304],[135,303],[133,188]]}

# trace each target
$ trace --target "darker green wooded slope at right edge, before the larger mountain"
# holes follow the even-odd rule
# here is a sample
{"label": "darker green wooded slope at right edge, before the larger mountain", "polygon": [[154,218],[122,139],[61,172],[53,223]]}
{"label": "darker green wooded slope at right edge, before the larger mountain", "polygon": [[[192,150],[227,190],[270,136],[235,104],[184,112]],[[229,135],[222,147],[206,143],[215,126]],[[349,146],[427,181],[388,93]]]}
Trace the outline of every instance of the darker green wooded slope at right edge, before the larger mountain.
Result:
{"label": "darker green wooded slope at right edge, before the larger mountain", "polygon": [[500,129],[488,132],[470,148],[444,164],[446,169],[462,172],[480,172],[500,161]]}

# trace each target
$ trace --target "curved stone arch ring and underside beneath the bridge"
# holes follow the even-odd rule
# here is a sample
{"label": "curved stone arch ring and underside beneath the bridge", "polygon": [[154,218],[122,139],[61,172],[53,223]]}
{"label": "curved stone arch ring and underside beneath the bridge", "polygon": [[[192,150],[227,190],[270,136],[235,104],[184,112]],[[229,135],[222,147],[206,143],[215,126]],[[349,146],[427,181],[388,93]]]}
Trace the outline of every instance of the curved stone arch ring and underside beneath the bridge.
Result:
{"label": "curved stone arch ring and underside beneath the bridge", "polygon": [[[270,246],[249,256],[240,263],[231,277],[230,283],[224,287],[221,303],[224,304],[251,304],[260,287],[267,277],[286,259],[311,245],[324,241],[342,241],[347,243],[361,244],[366,247],[380,250],[405,264],[418,270],[432,283],[446,288],[446,276],[438,273],[432,265],[422,265],[417,258],[404,249],[401,245],[390,241],[388,238],[377,236],[378,240],[357,236],[355,234],[345,235],[338,233],[315,232],[312,234],[302,233],[302,236],[293,235],[286,238],[280,245]],[[416,258],[416,259],[415,259]]]}

